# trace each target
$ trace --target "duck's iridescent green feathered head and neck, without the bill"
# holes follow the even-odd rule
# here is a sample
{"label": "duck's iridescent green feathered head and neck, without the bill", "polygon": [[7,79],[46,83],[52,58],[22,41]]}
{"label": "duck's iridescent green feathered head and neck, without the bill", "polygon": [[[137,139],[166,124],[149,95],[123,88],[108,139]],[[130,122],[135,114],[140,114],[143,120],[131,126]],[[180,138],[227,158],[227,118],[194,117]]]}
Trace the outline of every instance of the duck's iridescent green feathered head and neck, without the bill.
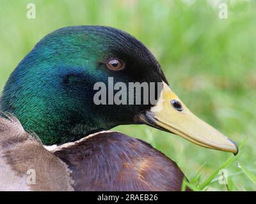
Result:
{"label": "duck's iridescent green feathered head and neck, without the bill", "polygon": [[[111,69],[111,59],[122,69]],[[6,83],[1,108],[46,145],[136,123],[134,116],[150,105],[93,102],[93,86],[108,87],[109,77],[125,84],[166,82],[154,56],[131,35],[112,27],[65,27],[45,36],[20,62]]]}

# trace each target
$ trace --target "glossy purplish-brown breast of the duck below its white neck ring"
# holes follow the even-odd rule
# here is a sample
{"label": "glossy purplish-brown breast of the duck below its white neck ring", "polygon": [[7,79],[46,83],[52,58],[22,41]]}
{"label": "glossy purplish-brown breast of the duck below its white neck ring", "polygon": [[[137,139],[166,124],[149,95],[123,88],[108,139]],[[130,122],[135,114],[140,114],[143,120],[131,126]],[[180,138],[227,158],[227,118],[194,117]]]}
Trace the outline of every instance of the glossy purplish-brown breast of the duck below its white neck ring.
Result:
{"label": "glossy purplish-brown breast of the duck below its white neck ring", "polygon": [[53,151],[73,171],[76,191],[180,191],[184,174],[148,143],[102,131]]}

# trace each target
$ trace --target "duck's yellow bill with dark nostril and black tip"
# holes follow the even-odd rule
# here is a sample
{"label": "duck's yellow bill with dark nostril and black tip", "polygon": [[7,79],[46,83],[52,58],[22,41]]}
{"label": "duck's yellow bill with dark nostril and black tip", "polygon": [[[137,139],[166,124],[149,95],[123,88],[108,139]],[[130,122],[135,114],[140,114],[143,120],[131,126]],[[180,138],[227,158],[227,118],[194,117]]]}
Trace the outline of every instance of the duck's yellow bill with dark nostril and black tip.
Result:
{"label": "duck's yellow bill with dark nostril and black tip", "polygon": [[154,128],[175,133],[202,147],[234,154],[238,152],[235,142],[191,113],[164,82],[156,106],[142,113],[139,120]]}

